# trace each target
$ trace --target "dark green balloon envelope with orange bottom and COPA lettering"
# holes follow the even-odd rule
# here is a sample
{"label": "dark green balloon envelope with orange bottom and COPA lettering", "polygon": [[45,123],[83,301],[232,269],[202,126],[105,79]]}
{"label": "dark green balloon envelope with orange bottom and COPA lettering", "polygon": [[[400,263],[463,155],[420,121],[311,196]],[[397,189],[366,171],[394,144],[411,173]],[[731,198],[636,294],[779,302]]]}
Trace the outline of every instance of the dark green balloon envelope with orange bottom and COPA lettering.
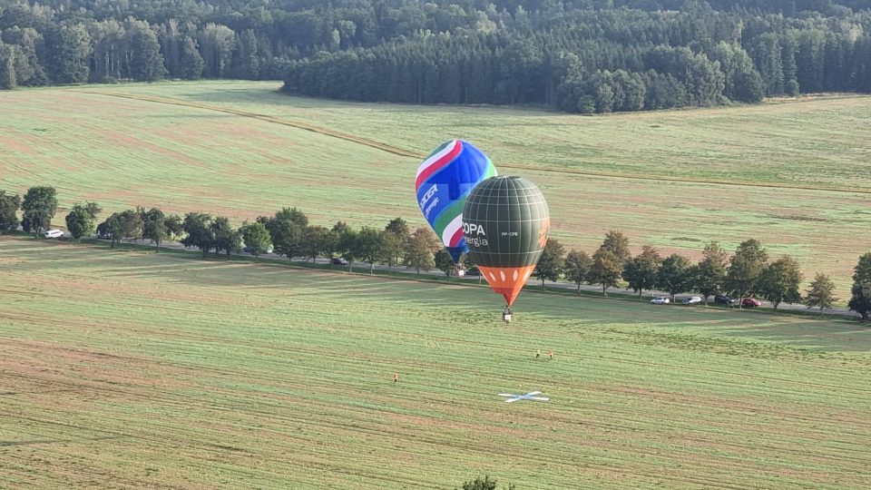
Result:
{"label": "dark green balloon envelope with orange bottom and COPA lettering", "polygon": [[484,279],[511,306],[542,256],[551,229],[542,191],[523,177],[494,177],[465,200],[463,232]]}

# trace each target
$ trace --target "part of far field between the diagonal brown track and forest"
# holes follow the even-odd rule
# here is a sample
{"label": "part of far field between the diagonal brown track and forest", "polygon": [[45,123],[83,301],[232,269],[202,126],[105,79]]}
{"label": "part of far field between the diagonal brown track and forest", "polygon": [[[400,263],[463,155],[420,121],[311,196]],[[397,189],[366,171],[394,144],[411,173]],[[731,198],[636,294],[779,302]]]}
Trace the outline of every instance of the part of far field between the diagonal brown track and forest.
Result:
{"label": "part of far field between the diagonal brown track and forest", "polygon": [[755,106],[585,117],[493,107],[345,103],[288,97],[275,83],[88,87],[315,124],[426,155],[477,142],[497,166],[871,191],[871,98],[837,95]]}

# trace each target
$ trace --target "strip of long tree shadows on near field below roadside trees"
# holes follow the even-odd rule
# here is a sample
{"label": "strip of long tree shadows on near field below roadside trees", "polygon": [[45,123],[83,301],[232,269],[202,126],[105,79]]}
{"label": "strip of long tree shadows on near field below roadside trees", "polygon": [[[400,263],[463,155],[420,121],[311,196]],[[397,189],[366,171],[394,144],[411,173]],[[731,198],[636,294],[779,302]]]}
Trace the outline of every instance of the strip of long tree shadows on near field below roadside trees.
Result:
{"label": "strip of long tree shadows on near field below roadside trees", "polygon": [[[191,289],[224,289],[216,295],[244,296],[248,291],[269,291],[279,298],[318,297],[330,308],[366,303],[379,309],[428,309],[434,319],[501,319],[503,299],[484,283],[405,279],[336,270],[311,270],[250,260],[200,260],[177,253],[142,252],[73,247],[54,242],[27,242],[5,247],[0,259],[18,263],[0,267],[58,277],[64,271],[83,270],[87,279],[111,288],[130,279],[181,284]],[[15,245],[18,245],[17,243]],[[193,254],[191,254],[193,255]],[[75,277],[79,273],[73,273]],[[871,328],[855,320],[817,319],[754,311],[681,306],[651,306],[646,301],[602,299],[561,293],[542,293],[527,286],[514,304],[517,319],[525,316],[556,322],[567,334],[583,335],[586,328],[619,328],[622,333],[683,338],[747,338],[809,350],[871,350]],[[513,324],[510,328],[523,328]]]}

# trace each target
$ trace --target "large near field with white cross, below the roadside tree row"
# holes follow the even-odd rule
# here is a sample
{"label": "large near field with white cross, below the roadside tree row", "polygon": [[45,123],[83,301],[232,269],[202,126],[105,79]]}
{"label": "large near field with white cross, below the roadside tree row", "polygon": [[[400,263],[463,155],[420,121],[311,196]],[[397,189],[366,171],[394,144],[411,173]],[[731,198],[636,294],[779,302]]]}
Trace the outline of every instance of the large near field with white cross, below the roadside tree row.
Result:
{"label": "large near field with white cross, below the roadside tree row", "polygon": [[852,321],[526,291],[506,327],[474,286],[24,237],[0,277],[4,488],[871,485]]}

